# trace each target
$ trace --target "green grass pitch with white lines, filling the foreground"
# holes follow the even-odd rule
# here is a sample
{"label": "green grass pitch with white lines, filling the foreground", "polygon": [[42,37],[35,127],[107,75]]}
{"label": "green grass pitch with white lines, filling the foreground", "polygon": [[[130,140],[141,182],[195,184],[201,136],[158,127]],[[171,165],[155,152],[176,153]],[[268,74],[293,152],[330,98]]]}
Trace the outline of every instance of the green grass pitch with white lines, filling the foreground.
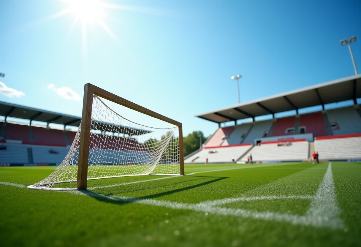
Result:
{"label": "green grass pitch with white lines, filling the foreground", "polygon": [[186,165],[185,176],[26,188],[0,167],[0,246],[361,246],[361,163]]}

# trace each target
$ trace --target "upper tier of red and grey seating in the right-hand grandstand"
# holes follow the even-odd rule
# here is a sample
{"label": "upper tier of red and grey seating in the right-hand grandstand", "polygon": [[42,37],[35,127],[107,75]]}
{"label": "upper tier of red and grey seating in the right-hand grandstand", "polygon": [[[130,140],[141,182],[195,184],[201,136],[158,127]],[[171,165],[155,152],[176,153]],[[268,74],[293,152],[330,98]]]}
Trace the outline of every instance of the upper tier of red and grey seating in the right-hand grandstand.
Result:
{"label": "upper tier of red and grey seating in the right-hand grandstand", "polygon": [[351,106],[218,128],[203,147],[254,143],[255,139],[268,136],[309,133],[314,137],[361,133],[360,109]]}

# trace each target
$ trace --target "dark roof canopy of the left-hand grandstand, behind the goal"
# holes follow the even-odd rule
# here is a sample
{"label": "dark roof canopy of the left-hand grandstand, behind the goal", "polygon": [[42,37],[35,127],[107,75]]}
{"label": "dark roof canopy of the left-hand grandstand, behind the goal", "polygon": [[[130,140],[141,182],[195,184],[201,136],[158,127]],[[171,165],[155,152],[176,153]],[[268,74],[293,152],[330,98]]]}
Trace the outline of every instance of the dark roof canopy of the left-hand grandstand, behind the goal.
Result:
{"label": "dark roof canopy of the left-hand grandstand, behind the goal", "polygon": [[[30,124],[32,121],[40,121],[46,122],[47,125],[49,123],[57,123],[65,126],[75,126],[79,127],[80,122],[82,120],[81,117],[66,115],[58,112],[50,112],[47,110],[36,109],[31,107],[26,107],[23,105],[16,105],[12,103],[7,103],[4,101],[0,101],[0,116],[5,117],[5,121],[7,117],[14,117],[14,118],[22,118],[26,120],[30,120]],[[115,125],[113,123],[106,123],[97,121],[96,124],[97,130],[112,132],[112,133],[121,133],[127,135],[142,135],[149,133],[151,131],[148,130],[141,130],[135,129],[131,127]]]}

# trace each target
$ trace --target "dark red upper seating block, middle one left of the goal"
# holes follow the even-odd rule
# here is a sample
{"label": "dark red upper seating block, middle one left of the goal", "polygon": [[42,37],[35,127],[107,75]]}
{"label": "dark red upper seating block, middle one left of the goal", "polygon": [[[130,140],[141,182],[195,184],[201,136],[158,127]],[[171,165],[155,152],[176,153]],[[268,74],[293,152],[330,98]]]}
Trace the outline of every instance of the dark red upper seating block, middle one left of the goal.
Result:
{"label": "dark red upper seating block, middle one left of the goal", "polygon": [[62,146],[67,144],[62,130],[32,126],[32,134],[34,136],[34,143]]}

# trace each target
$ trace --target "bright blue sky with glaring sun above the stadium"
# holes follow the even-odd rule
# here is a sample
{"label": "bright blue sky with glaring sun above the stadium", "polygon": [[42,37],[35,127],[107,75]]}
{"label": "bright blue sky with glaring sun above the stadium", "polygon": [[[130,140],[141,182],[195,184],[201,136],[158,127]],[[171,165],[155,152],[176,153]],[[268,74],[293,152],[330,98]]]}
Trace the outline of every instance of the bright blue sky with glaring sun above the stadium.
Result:
{"label": "bright blue sky with glaring sun above the stadium", "polygon": [[102,3],[0,0],[0,101],[81,116],[92,83],[208,136],[194,115],[238,103],[232,75],[242,103],[355,74],[360,0]]}

